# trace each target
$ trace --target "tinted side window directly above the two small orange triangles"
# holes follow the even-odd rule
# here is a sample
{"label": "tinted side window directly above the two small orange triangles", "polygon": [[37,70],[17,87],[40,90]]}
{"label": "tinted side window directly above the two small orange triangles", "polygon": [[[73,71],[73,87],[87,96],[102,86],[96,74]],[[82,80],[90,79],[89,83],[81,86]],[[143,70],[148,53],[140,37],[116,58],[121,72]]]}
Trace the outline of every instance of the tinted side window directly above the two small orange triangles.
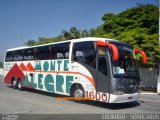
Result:
{"label": "tinted side window directly above the two small orange triangles", "polygon": [[23,59],[34,60],[34,48],[25,49]]}

